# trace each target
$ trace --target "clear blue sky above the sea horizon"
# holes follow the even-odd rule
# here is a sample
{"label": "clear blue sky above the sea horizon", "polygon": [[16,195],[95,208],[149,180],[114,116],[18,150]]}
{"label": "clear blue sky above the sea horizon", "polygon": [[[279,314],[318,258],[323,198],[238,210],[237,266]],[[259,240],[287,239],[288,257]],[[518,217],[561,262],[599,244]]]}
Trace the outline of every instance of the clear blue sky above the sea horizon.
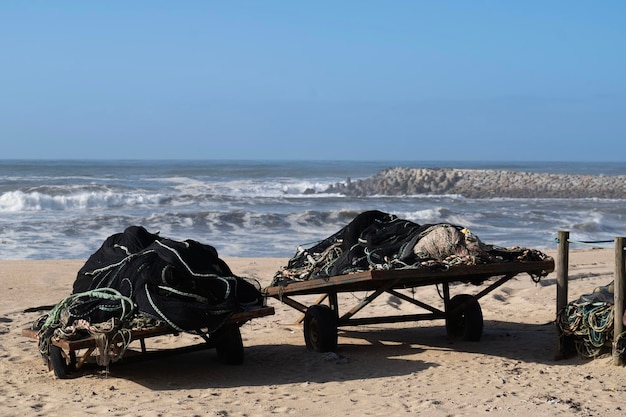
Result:
{"label": "clear blue sky above the sea horizon", "polygon": [[0,158],[626,161],[626,1],[3,1]]}

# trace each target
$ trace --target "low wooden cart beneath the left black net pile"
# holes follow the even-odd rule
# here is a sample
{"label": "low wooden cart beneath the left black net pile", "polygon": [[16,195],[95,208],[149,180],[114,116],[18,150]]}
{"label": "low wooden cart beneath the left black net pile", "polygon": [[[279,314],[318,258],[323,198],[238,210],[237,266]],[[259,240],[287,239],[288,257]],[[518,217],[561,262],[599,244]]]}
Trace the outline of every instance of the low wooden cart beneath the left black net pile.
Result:
{"label": "low wooden cart beneath the left black net pile", "polygon": [[[177,335],[180,332],[167,325],[148,327],[142,329],[132,329],[130,331],[131,342],[138,341],[141,347],[141,356],[149,356],[163,353],[173,352],[190,352],[202,349],[215,348],[217,351],[218,359],[227,364],[238,365],[243,362],[243,342],[241,339],[241,332],[239,327],[249,320],[258,317],[264,317],[274,314],[273,307],[258,307],[251,310],[238,312],[233,314],[226,323],[214,334],[207,336],[205,334],[198,334],[203,338],[203,342],[168,350],[155,350],[148,352],[146,350],[146,339],[164,336],[164,335]],[[22,335],[33,339],[38,339],[37,330],[24,329]],[[119,341],[110,341],[112,349],[116,348],[116,344]],[[48,357],[45,358],[49,369],[54,370],[55,375],[58,378],[67,378],[70,373],[80,369],[83,365],[88,363],[89,359],[96,353],[97,341],[93,336],[81,338],[81,339],[62,339],[53,337],[51,340]],[[127,352],[129,353],[129,352]],[[127,356],[124,356],[124,360],[128,360]]]}

